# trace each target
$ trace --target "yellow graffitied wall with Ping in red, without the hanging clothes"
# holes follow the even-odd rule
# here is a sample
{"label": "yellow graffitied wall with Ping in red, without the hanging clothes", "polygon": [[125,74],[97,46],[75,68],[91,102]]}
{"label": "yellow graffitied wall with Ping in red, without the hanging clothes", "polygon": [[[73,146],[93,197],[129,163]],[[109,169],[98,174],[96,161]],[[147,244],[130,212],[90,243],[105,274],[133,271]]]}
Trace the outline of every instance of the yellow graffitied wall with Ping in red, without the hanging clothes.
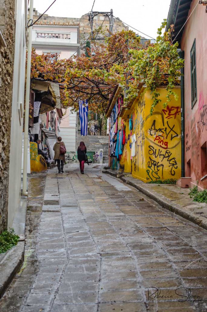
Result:
{"label": "yellow graffitied wall with Ping in red, without the hanging clothes", "polygon": [[133,130],[136,134],[136,156],[132,159],[132,176],[144,182],[181,177],[181,102],[180,88],[175,91],[179,100],[163,108],[166,89],[160,88],[161,102],[150,115],[150,91],[136,100],[133,111]]}

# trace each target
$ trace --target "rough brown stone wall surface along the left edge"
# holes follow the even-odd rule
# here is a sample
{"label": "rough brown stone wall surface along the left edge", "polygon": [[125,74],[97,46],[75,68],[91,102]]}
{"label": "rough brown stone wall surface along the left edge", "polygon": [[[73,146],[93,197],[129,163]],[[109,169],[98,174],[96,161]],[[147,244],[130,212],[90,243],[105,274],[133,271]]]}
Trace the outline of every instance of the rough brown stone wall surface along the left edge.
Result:
{"label": "rough brown stone wall surface along the left edge", "polygon": [[0,232],[7,227],[15,0],[0,0]]}

